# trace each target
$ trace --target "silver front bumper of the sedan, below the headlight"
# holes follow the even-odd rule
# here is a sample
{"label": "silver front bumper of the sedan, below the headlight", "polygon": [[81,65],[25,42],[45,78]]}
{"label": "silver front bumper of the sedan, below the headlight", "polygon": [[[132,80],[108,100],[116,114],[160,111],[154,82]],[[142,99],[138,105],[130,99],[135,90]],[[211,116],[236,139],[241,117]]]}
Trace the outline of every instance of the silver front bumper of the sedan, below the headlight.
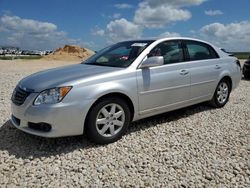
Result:
{"label": "silver front bumper of the sedan, below the headlight", "polygon": [[[27,133],[42,137],[62,137],[81,135],[84,121],[93,101],[60,102],[57,104],[43,104],[34,106],[36,93],[31,93],[25,102],[17,106],[11,103],[12,124]],[[51,125],[49,131],[40,131],[29,126],[30,123],[46,123]]]}

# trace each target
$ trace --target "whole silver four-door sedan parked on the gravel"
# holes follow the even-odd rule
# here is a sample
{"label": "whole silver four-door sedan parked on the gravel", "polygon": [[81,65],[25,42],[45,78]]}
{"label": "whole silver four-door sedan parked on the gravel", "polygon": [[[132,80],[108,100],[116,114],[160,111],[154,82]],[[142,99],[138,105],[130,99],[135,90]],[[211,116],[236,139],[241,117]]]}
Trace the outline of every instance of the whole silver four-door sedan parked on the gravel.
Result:
{"label": "whole silver four-door sedan parked on the gravel", "polygon": [[131,121],[204,101],[223,107],[241,79],[236,57],[191,38],[132,40],[81,64],[22,79],[12,95],[12,123],[43,137],[80,135],[105,144]]}

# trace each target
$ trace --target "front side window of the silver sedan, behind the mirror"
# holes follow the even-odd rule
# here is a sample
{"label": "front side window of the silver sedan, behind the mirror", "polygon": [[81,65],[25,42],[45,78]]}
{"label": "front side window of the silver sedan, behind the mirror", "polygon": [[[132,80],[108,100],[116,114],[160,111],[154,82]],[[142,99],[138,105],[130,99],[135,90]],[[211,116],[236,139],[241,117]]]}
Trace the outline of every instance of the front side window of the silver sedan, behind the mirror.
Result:
{"label": "front side window of the silver sedan, behind the mirror", "polygon": [[179,41],[165,41],[154,47],[148,57],[163,56],[164,64],[183,62],[183,50]]}

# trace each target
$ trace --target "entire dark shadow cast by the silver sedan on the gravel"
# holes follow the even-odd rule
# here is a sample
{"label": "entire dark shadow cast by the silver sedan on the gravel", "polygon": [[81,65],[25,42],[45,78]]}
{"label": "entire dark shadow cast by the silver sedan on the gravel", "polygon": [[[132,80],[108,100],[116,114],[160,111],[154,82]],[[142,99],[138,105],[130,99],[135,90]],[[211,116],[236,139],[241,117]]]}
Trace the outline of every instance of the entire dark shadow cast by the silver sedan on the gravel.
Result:
{"label": "entire dark shadow cast by the silver sedan on the gravel", "polygon": [[[176,121],[191,116],[195,113],[212,110],[206,104],[194,105],[180,110],[156,115],[150,118],[136,121],[129,126],[126,134],[141,131],[160,123]],[[0,151],[8,152],[16,158],[34,159],[41,157],[67,154],[74,150],[101,147],[89,142],[84,136],[42,138],[24,133],[16,129],[10,120],[0,128]]]}

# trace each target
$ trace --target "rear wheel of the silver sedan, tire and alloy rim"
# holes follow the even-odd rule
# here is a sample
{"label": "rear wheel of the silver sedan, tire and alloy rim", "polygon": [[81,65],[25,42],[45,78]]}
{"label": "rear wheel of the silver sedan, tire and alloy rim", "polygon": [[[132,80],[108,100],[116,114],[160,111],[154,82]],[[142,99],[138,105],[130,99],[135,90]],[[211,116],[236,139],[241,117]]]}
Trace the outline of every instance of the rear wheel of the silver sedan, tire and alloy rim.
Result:
{"label": "rear wheel of the silver sedan, tire and alloy rim", "polygon": [[231,85],[227,79],[222,79],[216,87],[214,96],[210,101],[210,104],[216,108],[225,106],[228,102],[231,92]]}

